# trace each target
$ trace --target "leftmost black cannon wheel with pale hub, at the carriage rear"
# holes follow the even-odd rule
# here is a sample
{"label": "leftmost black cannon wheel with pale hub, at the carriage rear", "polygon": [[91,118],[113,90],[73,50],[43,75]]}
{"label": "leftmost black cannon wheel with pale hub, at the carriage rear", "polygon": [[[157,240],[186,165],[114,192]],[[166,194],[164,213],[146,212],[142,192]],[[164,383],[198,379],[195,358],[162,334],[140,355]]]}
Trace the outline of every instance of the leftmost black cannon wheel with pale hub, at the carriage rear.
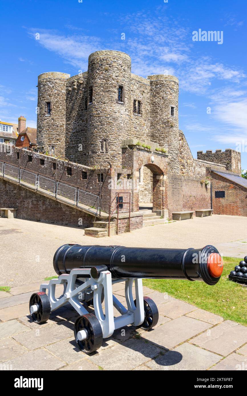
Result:
{"label": "leftmost black cannon wheel with pale hub, at the carriage rear", "polygon": [[[30,311],[31,305],[37,305],[38,312],[32,314]],[[29,300],[29,311],[35,323],[44,323],[50,318],[50,300],[48,299],[48,296],[46,295],[46,293],[44,293],[44,291],[39,291],[38,293],[34,293],[31,295]]]}

